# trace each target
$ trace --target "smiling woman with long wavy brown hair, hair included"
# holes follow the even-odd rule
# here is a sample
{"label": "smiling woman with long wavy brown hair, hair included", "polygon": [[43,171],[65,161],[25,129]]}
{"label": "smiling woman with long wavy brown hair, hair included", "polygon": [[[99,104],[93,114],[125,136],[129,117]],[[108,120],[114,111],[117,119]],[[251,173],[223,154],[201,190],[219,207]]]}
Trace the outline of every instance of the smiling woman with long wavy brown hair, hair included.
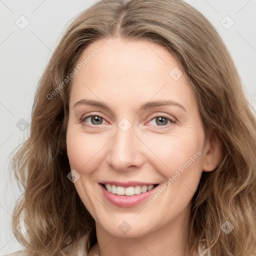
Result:
{"label": "smiling woman with long wavy brown hair, hair included", "polygon": [[13,159],[13,255],[255,255],[255,130],[202,14],[97,2],[55,49]]}

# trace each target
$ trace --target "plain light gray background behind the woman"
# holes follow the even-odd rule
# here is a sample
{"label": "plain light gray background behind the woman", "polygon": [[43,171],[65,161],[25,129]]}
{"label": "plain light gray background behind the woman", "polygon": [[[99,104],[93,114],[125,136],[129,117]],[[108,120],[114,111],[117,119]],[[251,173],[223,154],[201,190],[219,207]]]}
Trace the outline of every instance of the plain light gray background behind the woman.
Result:
{"label": "plain light gray background behind the woman", "polygon": [[[0,255],[21,248],[10,229],[21,191],[9,177],[9,155],[27,137],[29,127],[21,131],[16,123],[22,124],[23,118],[29,124],[35,86],[52,51],[67,24],[95,1],[0,0]],[[202,12],[223,38],[256,109],[256,0],[186,2]],[[21,15],[29,21],[24,29],[15,23],[25,24]]]}

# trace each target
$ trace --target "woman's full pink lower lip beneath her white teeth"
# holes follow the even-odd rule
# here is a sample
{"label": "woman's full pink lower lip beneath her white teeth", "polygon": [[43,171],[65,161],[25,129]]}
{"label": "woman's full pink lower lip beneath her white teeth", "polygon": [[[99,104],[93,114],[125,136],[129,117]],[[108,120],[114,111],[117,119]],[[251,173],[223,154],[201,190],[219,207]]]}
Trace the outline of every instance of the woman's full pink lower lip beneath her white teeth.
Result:
{"label": "woman's full pink lower lip beneath her white teeth", "polygon": [[139,204],[140,202],[142,202],[143,200],[148,198],[150,196],[150,194],[152,194],[154,192],[155,188],[158,187],[158,185],[157,185],[154,188],[152,188],[151,190],[144,192],[144,193],[140,193],[140,194],[118,195],[118,194],[113,194],[111,192],[108,192],[105,189],[105,187],[102,186],[101,184],[99,184],[99,186],[101,187],[103,195],[110,203],[112,203],[116,206],[119,206],[119,207],[124,207],[124,208],[132,207],[132,206]]}

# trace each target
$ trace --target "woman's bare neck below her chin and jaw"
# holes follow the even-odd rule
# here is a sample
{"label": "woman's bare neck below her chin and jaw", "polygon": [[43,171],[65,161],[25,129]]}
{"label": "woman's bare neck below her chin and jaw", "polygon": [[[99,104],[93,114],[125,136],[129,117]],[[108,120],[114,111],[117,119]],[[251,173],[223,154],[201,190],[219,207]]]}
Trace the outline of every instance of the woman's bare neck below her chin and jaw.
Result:
{"label": "woman's bare neck below her chin and jaw", "polygon": [[155,228],[138,236],[116,236],[96,223],[97,243],[91,248],[88,256],[95,254],[98,256],[188,255],[189,243],[186,228],[189,214],[187,215],[187,210],[170,222],[164,223],[161,228]]}

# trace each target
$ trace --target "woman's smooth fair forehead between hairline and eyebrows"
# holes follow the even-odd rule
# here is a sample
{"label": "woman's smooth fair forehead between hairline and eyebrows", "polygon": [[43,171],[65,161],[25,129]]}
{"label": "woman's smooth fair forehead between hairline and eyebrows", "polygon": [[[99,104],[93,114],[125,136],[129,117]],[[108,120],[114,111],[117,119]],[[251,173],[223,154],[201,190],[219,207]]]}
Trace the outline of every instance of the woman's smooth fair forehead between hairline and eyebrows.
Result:
{"label": "woman's smooth fair forehead between hairline and eyebrows", "polygon": [[77,65],[70,101],[84,95],[119,103],[130,102],[131,96],[134,102],[171,97],[188,107],[195,103],[177,59],[154,42],[100,39],[85,48]]}

